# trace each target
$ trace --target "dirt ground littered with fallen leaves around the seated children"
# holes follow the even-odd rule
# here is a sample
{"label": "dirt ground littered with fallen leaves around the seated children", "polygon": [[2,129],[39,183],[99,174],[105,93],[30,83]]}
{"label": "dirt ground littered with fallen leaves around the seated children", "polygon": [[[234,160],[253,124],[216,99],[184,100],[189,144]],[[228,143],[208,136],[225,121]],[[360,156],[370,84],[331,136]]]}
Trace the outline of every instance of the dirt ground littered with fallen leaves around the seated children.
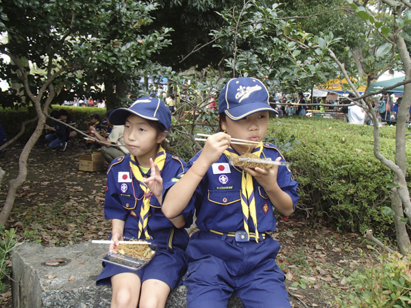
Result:
{"label": "dirt ground littered with fallen leaves around the seated children", "polygon": [[[105,239],[110,222],[104,219],[105,170],[78,170],[80,138],[66,151],[50,151],[39,140],[28,159],[27,181],[16,193],[7,229],[16,228],[18,240],[47,246],[72,245]],[[0,159],[7,172],[0,190],[0,208],[8,181],[18,172],[21,143],[12,144]],[[108,165],[106,165],[108,166]],[[301,213],[279,217],[273,238],[282,245],[277,263],[286,274],[292,307],[337,307],[335,297],[347,298],[346,277],[353,270],[370,266],[377,249],[356,233],[334,231],[323,222],[313,222]],[[360,257],[360,249],[364,256]],[[0,294],[0,306],[11,307],[10,288]]]}

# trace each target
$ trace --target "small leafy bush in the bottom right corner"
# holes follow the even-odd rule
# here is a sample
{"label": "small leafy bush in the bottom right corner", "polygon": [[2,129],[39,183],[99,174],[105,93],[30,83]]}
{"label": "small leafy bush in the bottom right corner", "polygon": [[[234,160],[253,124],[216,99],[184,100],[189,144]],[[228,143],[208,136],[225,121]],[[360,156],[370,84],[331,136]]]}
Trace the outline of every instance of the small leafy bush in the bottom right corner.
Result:
{"label": "small leafy bush in the bottom right corner", "polygon": [[[361,255],[363,257],[362,251]],[[363,261],[363,260],[362,260]],[[336,298],[339,307],[411,308],[411,255],[383,255],[379,264],[363,266],[351,274],[348,283],[354,287],[349,300]]]}

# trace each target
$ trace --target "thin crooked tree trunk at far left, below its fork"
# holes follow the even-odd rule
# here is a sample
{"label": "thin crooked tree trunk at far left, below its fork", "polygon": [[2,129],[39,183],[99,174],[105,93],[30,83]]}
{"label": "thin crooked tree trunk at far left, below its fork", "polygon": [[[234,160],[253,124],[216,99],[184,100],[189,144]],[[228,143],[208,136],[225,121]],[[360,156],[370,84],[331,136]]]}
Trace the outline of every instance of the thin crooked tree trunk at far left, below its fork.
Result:
{"label": "thin crooked tree trunk at far left, below its fork", "polygon": [[36,144],[38,138],[40,138],[42,130],[45,127],[45,123],[45,115],[40,114],[36,130],[29,138],[29,141],[25,144],[23,151],[21,151],[20,158],[18,159],[18,175],[15,179],[9,181],[7,198],[5,199],[3,209],[1,209],[0,212],[0,224],[3,226],[5,225],[5,222],[7,222],[10,211],[12,211],[14,199],[16,198],[16,191],[27,178],[27,158],[29,157],[29,153],[32,151],[34,144]]}

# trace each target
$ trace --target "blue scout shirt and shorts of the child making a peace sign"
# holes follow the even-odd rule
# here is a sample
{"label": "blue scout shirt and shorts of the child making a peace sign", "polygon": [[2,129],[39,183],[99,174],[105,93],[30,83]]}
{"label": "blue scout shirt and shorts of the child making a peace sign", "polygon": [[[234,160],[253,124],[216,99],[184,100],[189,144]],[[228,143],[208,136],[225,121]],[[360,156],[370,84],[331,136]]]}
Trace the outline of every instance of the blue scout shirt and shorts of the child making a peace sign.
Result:
{"label": "blue scout shirt and shorts of the child making a peace sign", "polygon": [[[124,237],[138,238],[138,215],[142,206],[143,192],[134,178],[130,168],[130,155],[114,159],[107,172],[107,188],[105,192],[105,219],[120,219],[125,221]],[[186,164],[179,157],[166,153],[166,161],[161,176],[163,182],[177,181],[184,174]],[[149,177],[150,171],[143,177]],[[188,234],[185,229],[177,229],[173,223],[162,214],[157,198],[150,199],[148,233],[151,243],[160,248],[147,266],[140,270],[128,270],[121,266],[105,264],[97,278],[97,285],[110,284],[110,277],[122,272],[135,272],[141,281],[158,279],[174,289],[181,284],[181,277],[186,271],[185,253],[188,244]],[[186,227],[192,223],[192,210],[183,213]],[[143,236],[144,238],[144,236]],[[145,239],[145,238],[144,238]]]}

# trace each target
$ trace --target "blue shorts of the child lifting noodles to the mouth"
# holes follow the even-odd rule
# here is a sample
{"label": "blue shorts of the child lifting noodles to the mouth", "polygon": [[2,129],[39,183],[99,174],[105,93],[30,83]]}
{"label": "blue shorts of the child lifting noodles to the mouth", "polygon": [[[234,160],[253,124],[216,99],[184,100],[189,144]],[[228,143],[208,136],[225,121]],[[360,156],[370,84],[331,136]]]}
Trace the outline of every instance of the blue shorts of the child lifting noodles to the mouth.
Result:
{"label": "blue shorts of the child lifting noodles to the mouth", "polygon": [[227,307],[234,292],[246,308],[290,308],[284,273],[275,263],[279,243],[271,236],[256,243],[236,242],[197,232],[187,247],[187,307]]}

